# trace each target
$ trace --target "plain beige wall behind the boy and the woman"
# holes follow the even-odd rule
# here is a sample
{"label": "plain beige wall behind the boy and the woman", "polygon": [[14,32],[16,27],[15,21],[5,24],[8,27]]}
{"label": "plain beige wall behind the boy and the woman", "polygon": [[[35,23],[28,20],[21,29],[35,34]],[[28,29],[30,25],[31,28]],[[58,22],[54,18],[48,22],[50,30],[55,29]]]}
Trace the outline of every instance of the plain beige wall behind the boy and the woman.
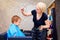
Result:
{"label": "plain beige wall behind the boy and the woman", "polygon": [[31,30],[33,27],[32,16],[23,16],[20,8],[24,7],[26,12],[30,12],[35,9],[35,5],[39,1],[45,2],[48,7],[54,0],[0,0],[0,33],[8,30],[13,15],[22,18],[20,29]]}

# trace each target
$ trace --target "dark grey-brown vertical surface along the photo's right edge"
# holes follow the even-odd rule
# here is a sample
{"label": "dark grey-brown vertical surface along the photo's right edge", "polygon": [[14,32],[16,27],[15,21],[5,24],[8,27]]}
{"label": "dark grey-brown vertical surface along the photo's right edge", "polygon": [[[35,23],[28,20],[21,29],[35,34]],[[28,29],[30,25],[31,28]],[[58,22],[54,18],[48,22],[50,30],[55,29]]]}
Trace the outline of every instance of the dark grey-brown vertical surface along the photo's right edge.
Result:
{"label": "dark grey-brown vertical surface along the photo's right edge", "polygon": [[60,40],[60,0],[55,0],[56,2],[56,28],[57,28],[57,37]]}

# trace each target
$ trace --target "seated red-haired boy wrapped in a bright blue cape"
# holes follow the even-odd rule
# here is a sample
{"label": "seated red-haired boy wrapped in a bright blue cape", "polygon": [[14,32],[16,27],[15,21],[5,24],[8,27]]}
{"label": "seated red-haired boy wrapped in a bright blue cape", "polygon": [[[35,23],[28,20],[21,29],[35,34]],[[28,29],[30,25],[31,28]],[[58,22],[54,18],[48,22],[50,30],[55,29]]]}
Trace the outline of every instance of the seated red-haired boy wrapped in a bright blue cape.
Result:
{"label": "seated red-haired boy wrapped in a bright blue cape", "polygon": [[21,22],[21,18],[17,15],[14,15],[11,20],[12,24],[10,25],[7,36],[8,37],[25,37],[24,33],[19,29],[19,24]]}

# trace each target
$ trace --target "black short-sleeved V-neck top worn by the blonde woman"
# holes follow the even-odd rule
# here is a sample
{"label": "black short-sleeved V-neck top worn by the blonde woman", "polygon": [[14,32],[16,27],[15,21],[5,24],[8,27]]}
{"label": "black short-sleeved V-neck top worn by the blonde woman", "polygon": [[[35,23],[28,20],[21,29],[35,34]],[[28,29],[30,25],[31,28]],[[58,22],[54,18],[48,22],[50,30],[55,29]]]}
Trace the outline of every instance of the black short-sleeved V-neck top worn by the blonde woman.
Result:
{"label": "black short-sleeved V-neck top worn by the blonde woman", "polygon": [[37,20],[37,18],[36,18],[36,14],[37,14],[36,10],[32,10],[31,13],[33,15],[34,28],[38,28],[41,25],[45,25],[45,20],[48,19],[47,15],[45,13],[42,14],[42,16],[39,20]]}

